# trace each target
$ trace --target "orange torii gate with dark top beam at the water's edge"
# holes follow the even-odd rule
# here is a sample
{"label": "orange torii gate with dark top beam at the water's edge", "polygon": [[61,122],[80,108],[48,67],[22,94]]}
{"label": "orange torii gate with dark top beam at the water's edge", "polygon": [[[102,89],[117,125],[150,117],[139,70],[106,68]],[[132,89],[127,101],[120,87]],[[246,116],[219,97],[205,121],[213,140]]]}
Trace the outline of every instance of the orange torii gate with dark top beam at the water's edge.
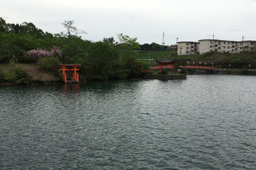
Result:
{"label": "orange torii gate with dark top beam at the water's edge", "polygon": [[[81,66],[81,64],[58,64],[60,67],[62,67],[61,70],[62,71],[62,74],[63,74],[63,78],[62,78],[62,81],[67,83],[67,82],[79,82],[79,79],[78,79],[78,73],[76,72],[77,70],[79,70],[78,68],[76,67],[79,67]],[[68,68],[66,68],[68,67]],[[67,80],[67,73],[65,73],[65,71],[74,71],[73,72],[73,78],[72,80]]]}

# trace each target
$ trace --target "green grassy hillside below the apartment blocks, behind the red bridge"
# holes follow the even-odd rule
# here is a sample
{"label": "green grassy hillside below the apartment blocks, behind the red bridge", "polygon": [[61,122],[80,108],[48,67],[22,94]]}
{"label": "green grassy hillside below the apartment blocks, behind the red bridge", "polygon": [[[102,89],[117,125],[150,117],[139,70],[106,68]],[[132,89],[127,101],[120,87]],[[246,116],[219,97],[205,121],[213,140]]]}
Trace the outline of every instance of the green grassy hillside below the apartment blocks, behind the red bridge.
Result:
{"label": "green grassy hillside below the apartment blocks, behind the red bridge", "polygon": [[[149,55],[150,54],[150,55]],[[145,61],[149,59],[161,59],[168,55],[169,58],[176,60],[176,66],[180,65],[194,65],[213,66],[221,68],[240,68],[248,69],[249,64],[251,69],[256,69],[256,51],[244,51],[241,53],[218,53],[218,52],[207,52],[201,55],[177,55],[176,51],[160,51],[160,52],[143,52],[138,53],[137,59],[144,59]],[[187,63],[189,61],[189,64]],[[150,62],[150,66],[158,65],[156,62]]]}

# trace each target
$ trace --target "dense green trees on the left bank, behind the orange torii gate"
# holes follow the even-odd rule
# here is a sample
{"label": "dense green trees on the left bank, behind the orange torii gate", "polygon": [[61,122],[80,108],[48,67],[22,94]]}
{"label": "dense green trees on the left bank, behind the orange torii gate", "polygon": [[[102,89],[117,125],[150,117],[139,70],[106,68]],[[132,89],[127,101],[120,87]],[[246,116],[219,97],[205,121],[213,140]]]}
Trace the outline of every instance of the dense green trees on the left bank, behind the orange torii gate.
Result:
{"label": "dense green trees on the left bank, behind the orange torii gate", "polygon": [[[135,60],[135,50],[140,49],[137,38],[117,34],[118,43],[113,37],[92,42],[82,39],[80,34],[86,33],[78,30],[73,21],[61,24],[66,31],[51,34],[31,22],[10,24],[0,18],[0,63],[8,62],[13,57],[19,63],[37,62],[37,55],[43,55],[42,51],[45,51],[48,57],[44,56],[44,62],[55,57],[59,63],[62,59],[65,63],[81,63],[82,80],[136,78],[142,69],[147,68],[147,64]],[[56,49],[59,51],[54,53]]]}

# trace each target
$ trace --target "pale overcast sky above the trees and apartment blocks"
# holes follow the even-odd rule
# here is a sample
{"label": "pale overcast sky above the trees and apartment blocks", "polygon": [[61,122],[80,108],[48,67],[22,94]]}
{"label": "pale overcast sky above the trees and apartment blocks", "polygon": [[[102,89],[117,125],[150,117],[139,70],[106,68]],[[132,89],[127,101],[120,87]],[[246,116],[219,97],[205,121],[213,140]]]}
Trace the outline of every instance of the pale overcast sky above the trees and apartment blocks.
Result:
{"label": "pale overcast sky above the trees and apartment blocks", "polygon": [[32,22],[52,34],[65,31],[61,22],[100,41],[123,33],[139,44],[165,45],[199,39],[256,40],[256,0],[1,0],[6,23]]}

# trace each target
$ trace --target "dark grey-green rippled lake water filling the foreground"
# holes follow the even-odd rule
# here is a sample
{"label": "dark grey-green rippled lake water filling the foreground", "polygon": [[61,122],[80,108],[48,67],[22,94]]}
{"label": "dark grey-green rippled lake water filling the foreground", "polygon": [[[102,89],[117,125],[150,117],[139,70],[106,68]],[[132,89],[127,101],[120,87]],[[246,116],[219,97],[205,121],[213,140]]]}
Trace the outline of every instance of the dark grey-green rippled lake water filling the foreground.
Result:
{"label": "dark grey-green rippled lake water filling the foreground", "polygon": [[255,169],[256,77],[0,86],[0,169]]}

